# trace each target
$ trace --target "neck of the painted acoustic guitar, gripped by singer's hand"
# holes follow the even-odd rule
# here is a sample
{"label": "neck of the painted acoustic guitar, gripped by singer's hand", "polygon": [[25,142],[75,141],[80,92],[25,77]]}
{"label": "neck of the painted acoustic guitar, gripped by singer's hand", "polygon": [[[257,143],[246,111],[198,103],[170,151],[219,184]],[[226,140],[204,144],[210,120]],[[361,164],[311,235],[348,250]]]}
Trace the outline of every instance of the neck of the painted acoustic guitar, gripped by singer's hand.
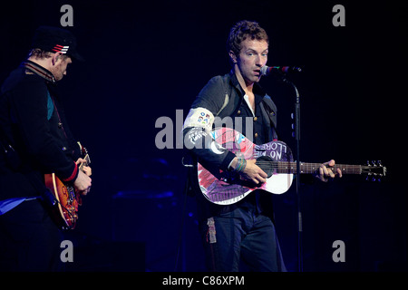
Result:
{"label": "neck of the painted acoustic guitar, gripped by singer's hand", "polygon": [[[277,173],[297,173],[296,162],[276,162]],[[318,172],[321,163],[305,163],[300,162],[300,173],[311,174]],[[340,169],[343,174],[361,174],[363,166],[361,165],[348,165],[348,164],[335,164],[335,166],[329,169]]]}

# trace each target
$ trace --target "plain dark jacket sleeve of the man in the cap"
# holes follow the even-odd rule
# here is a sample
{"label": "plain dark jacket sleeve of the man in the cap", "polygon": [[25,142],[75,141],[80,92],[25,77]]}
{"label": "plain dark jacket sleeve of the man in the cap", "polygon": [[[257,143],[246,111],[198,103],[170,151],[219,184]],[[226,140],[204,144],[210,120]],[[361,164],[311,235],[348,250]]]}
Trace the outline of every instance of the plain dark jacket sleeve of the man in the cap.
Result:
{"label": "plain dark jacket sleeve of the man in the cap", "polygon": [[73,181],[78,174],[76,163],[53,139],[47,121],[47,87],[36,76],[27,78],[11,96],[11,113],[24,152],[35,167],[54,172],[64,181]]}

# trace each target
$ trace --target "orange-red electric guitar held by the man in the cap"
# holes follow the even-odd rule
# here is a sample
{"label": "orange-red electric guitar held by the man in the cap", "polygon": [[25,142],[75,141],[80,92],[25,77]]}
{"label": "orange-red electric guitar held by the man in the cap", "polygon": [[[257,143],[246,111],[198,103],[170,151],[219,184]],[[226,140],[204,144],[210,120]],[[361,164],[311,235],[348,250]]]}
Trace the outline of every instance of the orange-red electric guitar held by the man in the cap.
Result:
{"label": "orange-red electric guitar held by the man in the cap", "polygon": [[[78,167],[83,170],[84,166],[89,166],[91,160],[88,152],[80,144],[83,150],[83,160]],[[81,193],[76,192],[72,185],[64,183],[58,179],[54,173],[44,174],[45,187],[53,194],[52,217],[58,227],[62,229],[73,229],[78,220],[78,208],[83,204]]]}

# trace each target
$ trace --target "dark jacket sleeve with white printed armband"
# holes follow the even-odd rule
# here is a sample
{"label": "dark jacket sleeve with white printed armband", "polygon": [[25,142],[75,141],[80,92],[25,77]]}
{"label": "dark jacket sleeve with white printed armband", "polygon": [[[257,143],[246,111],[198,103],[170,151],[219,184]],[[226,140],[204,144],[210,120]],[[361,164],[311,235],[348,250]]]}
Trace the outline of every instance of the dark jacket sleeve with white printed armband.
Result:
{"label": "dark jacket sleeve with white printed armband", "polygon": [[182,137],[185,148],[206,167],[228,169],[235,154],[217,143],[210,131],[217,113],[225,102],[221,76],[212,78],[199,92],[183,125]]}

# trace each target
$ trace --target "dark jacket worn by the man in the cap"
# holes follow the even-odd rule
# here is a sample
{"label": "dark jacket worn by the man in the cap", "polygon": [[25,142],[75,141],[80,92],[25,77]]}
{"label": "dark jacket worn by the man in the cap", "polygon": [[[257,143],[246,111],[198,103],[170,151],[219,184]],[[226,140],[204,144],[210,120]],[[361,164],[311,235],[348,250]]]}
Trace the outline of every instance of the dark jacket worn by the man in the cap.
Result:
{"label": "dark jacket worn by the man in the cap", "polygon": [[[0,200],[38,196],[44,173],[73,182],[80,148],[69,130],[53,74],[33,62],[10,73],[0,96]],[[12,146],[14,150],[10,149]]]}

